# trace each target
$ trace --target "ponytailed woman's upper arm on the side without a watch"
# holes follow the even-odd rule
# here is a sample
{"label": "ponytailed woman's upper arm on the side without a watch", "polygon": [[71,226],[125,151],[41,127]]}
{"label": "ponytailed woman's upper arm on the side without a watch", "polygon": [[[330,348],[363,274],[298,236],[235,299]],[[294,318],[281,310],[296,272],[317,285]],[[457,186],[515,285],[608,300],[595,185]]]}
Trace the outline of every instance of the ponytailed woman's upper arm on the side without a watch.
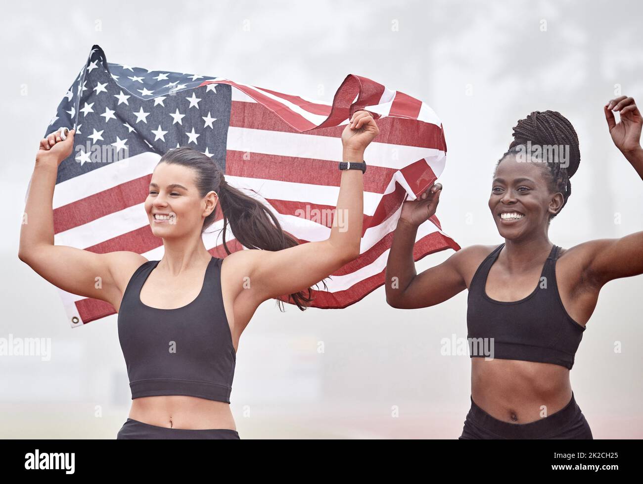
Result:
{"label": "ponytailed woman's upper arm on the side without a watch", "polygon": [[120,293],[118,270],[123,254],[147,260],[134,252],[96,254],[66,245],[42,245],[34,248],[24,261],[64,291],[111,302]]}

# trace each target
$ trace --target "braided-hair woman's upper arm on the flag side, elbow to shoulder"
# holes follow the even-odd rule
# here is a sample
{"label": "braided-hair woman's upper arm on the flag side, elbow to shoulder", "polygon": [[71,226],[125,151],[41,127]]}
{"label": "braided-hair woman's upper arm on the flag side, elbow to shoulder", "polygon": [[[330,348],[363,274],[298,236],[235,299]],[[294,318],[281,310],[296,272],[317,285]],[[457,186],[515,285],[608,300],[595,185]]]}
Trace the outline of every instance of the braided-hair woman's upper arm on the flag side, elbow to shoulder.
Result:
{"label": "braided-hair woman's upper arm on the flag side, elbow to shoulder", "polygon": [[395,308],[417,309],[435,306],[467,288],[460,265],[464,249],[459,250],[443,263],[430,267],[413,277],[407,288],[395,297]]}

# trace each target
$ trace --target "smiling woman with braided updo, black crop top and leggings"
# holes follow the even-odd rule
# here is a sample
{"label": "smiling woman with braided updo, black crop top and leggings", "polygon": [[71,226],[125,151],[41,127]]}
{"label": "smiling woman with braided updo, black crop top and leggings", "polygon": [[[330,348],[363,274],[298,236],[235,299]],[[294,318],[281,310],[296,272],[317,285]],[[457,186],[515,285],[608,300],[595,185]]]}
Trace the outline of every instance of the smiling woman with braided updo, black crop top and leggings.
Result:
{"label": "smiling woman with braided updo, black crop top and leggings", "polygon": [[[615,98],[603,110],[614,144],[643,179],[643,122],[634,99]],[[404,202],[386,266],[386,301],[426,308],[469,290],[471,409],[460,439],[591,439],[569,372],[602,286],[643,274],[643,232],[554,245],[548,227],[572,193],[578,137],[556,111],[534,111],[513,135],[489,197],[505,241],[463,248],[417,275],[417,227],[435,214],[442,189],[433,185]]]}

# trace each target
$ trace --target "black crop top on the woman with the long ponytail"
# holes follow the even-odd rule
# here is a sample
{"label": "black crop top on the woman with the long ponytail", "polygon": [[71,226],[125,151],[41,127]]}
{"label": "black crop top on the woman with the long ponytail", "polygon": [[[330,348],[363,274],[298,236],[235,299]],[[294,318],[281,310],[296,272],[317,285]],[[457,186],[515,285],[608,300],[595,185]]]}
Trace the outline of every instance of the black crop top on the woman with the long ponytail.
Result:
{"label": "black crop top on the woman with the long ponytail", "polygon": [[132,400],[188,395],[230,403],[237,356],[223,306],[221,262],[212,257],[199,295],[176,309],[141,302],[141,288],[159,261],[143,263],[132,275],[118,312]]}

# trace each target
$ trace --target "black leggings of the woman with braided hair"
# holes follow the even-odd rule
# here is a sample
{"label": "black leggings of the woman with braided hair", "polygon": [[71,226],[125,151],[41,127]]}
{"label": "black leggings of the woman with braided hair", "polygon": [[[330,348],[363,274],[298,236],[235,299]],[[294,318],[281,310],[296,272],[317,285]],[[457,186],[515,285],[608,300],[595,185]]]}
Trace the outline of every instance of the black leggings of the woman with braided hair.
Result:
{"label": "black leggings of the woman with braided hair", "polygon": [[541,420],[509,423],[498,420],[478,407],[471,398],[471,409],[458,439],[593,439],[590,425],[572,399],[565,408]]}

